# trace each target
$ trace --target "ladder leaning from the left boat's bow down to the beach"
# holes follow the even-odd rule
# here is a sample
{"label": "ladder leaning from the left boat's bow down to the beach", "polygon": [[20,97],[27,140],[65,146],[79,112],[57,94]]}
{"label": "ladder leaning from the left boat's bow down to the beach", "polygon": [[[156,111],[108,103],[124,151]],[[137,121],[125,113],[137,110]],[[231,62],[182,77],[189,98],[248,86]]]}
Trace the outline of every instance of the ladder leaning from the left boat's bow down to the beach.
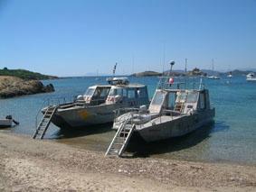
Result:
{"label": "ladder leaning from the left boat's bow down to the beach", "polygon": [[41,122],[37,125],[35,132],[33,133],[33,139],[43,139],[44,134],[46,133],[53,114],[57,111],[58,106],[51,105],[47,107],[45,113],[43,114],[43,118]]}

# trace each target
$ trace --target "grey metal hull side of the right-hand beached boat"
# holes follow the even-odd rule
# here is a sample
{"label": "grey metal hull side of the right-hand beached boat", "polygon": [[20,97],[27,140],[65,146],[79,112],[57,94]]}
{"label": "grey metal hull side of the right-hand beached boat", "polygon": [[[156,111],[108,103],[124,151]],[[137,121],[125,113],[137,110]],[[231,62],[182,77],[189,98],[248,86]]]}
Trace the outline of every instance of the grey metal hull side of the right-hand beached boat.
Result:
{"label": "grey metal hull side of the right-hand beached boat", "polygon": [[173,119],[170,116],[161,116],[157,117],[154,123],[148,122],[143,127],[138,125],[136,132],[146,142],[166,140],[191,133],[205,124],[213,122],[214,114],[215,110],[213,108],[207,110],[207,112],[185,114],[177,118],[173,117]]}

